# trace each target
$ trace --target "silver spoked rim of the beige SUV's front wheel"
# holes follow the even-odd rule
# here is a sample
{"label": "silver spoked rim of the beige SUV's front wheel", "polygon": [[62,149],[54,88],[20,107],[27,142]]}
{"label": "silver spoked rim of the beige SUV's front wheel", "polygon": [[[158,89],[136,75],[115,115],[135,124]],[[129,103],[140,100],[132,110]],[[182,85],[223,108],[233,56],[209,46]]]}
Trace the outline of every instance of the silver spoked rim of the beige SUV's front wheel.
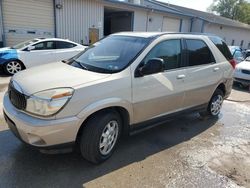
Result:
{"label": "silver spoked rim of the beige SUV's front wheel", "polygon": [[113,120],[110,121],[102,131],[99,142],[99,149],[102,155],[107,155],[111,152],[118,137],[118,123]]}

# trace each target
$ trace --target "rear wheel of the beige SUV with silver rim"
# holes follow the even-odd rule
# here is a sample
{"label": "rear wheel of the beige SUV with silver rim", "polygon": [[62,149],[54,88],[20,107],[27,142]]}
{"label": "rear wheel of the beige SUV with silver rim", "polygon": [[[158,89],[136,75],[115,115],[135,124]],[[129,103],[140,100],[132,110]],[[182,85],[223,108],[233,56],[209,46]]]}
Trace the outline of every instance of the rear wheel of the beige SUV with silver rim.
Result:
{"label": "rear wheel of the beige SUV with silver rim", "polygon": [[216,89],[211,97],[206,111],[200,112],[202,117],[211,116],[218,117],[224,100],[224,93],[220,89]]}

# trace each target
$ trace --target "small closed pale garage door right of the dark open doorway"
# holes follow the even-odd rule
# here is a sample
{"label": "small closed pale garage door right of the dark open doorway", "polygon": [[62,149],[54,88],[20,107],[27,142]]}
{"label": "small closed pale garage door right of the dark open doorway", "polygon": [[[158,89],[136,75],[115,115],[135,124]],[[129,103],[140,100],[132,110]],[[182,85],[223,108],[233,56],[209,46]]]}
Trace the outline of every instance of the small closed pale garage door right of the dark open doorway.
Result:
{"label": "small closed pale garage door right of the dark open doorway", "polygon": [[177,18],[163,18],[163,26],[162,31],[169,31],[169,32],[179,32],[180,30],[180,19]]}

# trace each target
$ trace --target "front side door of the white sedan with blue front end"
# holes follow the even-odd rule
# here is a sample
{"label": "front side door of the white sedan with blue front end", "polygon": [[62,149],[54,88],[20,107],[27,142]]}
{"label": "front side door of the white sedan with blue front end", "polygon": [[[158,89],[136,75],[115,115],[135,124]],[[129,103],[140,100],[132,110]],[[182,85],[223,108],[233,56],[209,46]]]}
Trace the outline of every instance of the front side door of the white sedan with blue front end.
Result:
{"label": "front side door of the white sedan with blue front end", "polygon": [[26,68],[56,61],[54,41],[44,41],[32,45],[34,49],[23,51]]}

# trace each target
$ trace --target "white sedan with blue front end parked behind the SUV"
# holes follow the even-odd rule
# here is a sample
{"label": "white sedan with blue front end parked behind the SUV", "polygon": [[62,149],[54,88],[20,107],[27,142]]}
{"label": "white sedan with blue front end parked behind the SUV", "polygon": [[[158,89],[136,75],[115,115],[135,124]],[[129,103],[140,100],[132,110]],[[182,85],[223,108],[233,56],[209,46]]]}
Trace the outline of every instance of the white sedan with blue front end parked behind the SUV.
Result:
{"label": "white sedan with blue front end parked behind the SUV", "polygon": [[37,65],[69,59],[86,46],[58,38],[36,38],[0,49],[0,66],[10,75]]}

